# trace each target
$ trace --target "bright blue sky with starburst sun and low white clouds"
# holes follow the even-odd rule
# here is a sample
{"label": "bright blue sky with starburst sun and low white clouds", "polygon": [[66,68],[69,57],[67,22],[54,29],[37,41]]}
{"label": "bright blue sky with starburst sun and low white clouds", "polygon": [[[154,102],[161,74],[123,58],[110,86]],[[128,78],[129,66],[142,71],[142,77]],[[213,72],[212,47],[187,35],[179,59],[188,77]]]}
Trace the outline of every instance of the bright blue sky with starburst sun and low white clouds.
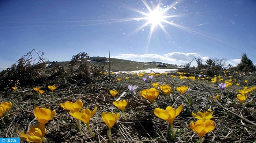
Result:
{"label": "bright blue sky with starburst sun and low white clouds", "polygon": [[[36,49],[184,64],[241,55],[256,63],[255,0],[1,0],[0,67]],[[37,58],[35,55],[34,58]]]}

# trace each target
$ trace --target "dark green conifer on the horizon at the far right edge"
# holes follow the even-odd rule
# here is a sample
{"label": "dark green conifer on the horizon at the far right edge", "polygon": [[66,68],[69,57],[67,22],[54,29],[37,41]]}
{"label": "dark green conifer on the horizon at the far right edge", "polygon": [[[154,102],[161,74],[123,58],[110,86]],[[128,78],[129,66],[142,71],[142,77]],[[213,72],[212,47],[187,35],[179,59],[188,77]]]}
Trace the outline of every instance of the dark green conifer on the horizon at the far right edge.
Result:
{"label": "dark green conifer on the horizon at the far right edge", "polygon": [[256,71],[256,66],[253,65],[252,61],[247,58],[247,55],[244,53],[240,63],[237,65],[237,69],[243,72]]}

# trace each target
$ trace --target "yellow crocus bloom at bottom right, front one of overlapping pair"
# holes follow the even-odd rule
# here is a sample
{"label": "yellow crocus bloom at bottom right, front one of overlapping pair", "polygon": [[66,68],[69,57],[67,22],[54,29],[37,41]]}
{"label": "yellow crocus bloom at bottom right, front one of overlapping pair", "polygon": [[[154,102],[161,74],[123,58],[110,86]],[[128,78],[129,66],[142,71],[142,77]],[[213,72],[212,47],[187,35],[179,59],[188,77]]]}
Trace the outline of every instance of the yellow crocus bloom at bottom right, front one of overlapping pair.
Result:
{"label": "yellow crocus bloom at bottom right, front one of overlapping pair", "polygon": [[191,121],[190,128],[194,132],[197,132],[201,140],[205,134],[207,134],[208,132],[211,132],[215,128],[215,125],[214,125],[214,121],[211,121],[210,119],[207,119],[206,121],[202,121],[199,119],[195,122],[195,124],[193,121]]}

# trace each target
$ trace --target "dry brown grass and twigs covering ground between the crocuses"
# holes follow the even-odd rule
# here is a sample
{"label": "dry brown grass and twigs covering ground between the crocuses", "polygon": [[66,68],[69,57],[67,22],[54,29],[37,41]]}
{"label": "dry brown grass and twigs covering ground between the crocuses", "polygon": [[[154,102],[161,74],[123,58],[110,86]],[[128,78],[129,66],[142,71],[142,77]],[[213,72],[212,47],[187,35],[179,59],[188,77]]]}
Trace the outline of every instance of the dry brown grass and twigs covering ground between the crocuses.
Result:
{"label": "dry brown grass and twigs covering ground between the crocuses", "polygon": [[[78,68],[79,69],[79,68]],[[96,69],[96,68],[93,68]],[[76,69],[77,70],[77,69]],[[104,69],[101,69],[104,71]],[[74,70],[75,71],[75,70]],[[70,74],[78,74],[74,71],[65,71],[62,76],[50,76],[48,81],[42,80],[41,83],[28,83],[27,85],[18,85],[19,89],[11,91],[11,86],[6,87],[0,91],[0,101],[11,101],[13,107],[9,110],[9,117],[4,114],[2,116],[5,125],[0,123],[0,137],[18,138],[19,131],[25,132],[28,125],[36,125],[37,120],[34,120],[33,110],[35,107],[45,107],[50,110],[56,110],[56,116],[46,123],[45,137],[51,143],[106,143],[108,142],[107,130],[108,127],[101,118],[102,112],[120,112],[119,109],[113,106],[118,96],[125,92],[122,99],[128,99],[129,104],[125,109],[127,119],[122,117],[112,128],[112,138],[115,143],[196,143],[198,135],[191,131],[189,123],[196,121],[191,115],[192,112],[204,111],[211,109],[213,113],[213,121],[215,122],[215,129],[206,134],[204,143],[255,143],[256,141],[256,126],[246,122],[234,114],[249,119],[254,124],[256,123],[256,99],[255,91],[253,91],[247,98],[246,108],[242,108],[241,103],[237,101],[237,89],[243,89],[245,86],[256,85],[256,74],[246,73],[244,76],[229,72],[228,75],[237,81],[228,87],[224,92],[221,92],[217,83],[213,84],[210,80],[180,80],[168,75],[160,74],[159,77],[154,76],[152,81],[145,83],[141,77],[137,75],[117,74],[106,76],[103,73],[97,76],[89,75],[89,81],[82,79],[80,76],[68,77]],[[9,71],[11,72],[11,71]],[[198,73],[191,73],[191,75]],[[96,74],[95,74],[96,75]],[[227,75],[227,76],[228,76]],[[130,76],[129,80],[124,77]],[[146,77],[147,74],[144,75]],[[223,76],[224,78],[228,78]],[[70,83],[70,78],[76,82]],[[122,78],[121,82],[116,81],[116,78]],[[249,80],[245,83],[244,80]],[[64,82],[65,81],[65,82]],[[167,106],[172,106],[175,109],[181,104],[184,105],[182,112],[176,117],[174,121],[174,128],[178,129],[178,134],[174,141],[166,138],[167,122],[156,117],[153,113],[154,108],[150,101],[144,99],[139,95],[139,91],[151,88],[150,83],[159,82],[160,85],[170,84],[173,88],[173,101],[167,100],[166,95],[160,93],[156,98],[155,103],[158,107],[165,109]],[[239,87],[235,83],[241,83]],[[50,96],[50,91],[47,90],[49,84],[57,85],[58,88],[54,91],[54,96]],[[139,88],[133,93],[128,92],[127,85],[139,85]],[[215,95],[221,95],[221,105],[226,109],[234,112],[230,113],[222,107],[212,102],[209,97],[211,94],[202,87],[205,85]],[[186,96],[192,100],[192,106],[184,100],[183,96],[176,91],[177,86],[188,85],[189,89],[186,91]],[[37,92],[33,91],[33,87],[40,86],[46,90],[46,93],[39,98]],[[121,91],[116,97],[109,94],[109,90]],[[67,110],[60,107],[60,103],[65,101],[83,101],[83,109],[94,109],[98,107],[96,114],[90,120],[90,126],[96,137],[93,138],[86,128],[83,127],[82,132],[76,129],[76,120],[69,115]]]}

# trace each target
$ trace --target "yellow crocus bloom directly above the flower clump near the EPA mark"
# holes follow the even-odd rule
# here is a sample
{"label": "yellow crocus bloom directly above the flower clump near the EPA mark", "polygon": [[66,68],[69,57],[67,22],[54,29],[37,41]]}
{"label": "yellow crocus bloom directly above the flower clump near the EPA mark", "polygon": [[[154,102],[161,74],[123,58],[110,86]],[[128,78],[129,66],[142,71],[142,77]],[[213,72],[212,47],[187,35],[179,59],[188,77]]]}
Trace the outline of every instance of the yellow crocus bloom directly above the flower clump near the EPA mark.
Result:
{"label": "yellow crocus bloom directly above the flower clump near the EPA mark", "polygon": [[37,121],[39,121],[39,123],[45,125],[46,122],[48,122],[56,115],[56,111],[53,110],[51,112],[50,109],[35,107],[34,115],[35,118],[37,118]]}

